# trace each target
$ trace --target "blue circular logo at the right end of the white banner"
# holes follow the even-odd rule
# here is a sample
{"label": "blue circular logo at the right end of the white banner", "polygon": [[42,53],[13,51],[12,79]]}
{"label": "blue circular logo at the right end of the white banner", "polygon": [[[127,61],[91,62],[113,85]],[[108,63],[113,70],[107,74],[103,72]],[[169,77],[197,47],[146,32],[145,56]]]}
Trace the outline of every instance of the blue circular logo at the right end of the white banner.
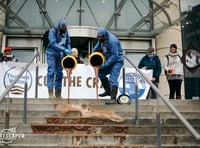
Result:
{"label": "blue circular logo at the right end of the white banner", "polygon": [[119,91],[121,94],[125,92],[125,94],[129,95],[131,99],[136,98],[135,93],[135,84],[138,84],[138,98],[140,98],[146,89],[145,80],[142,76],[136,73],[126,73],[125,74],[125,88],[123,88],[123,76],[119,79]]}

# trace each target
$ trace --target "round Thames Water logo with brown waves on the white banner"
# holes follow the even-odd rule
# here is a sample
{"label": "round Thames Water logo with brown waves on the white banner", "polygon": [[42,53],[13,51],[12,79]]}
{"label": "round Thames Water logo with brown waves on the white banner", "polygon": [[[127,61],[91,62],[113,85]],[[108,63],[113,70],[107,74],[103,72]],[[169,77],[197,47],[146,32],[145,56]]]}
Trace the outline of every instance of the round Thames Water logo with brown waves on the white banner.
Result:
{"label": "round Thames Water logo with brown waves on the white banner", "polygon": [[[3,83],[4,87],[7,89],[8,86],[16,79],[17,75],[20,73],[21,69],[16,67],[11,67],[5,72]],[[31,73],[27,70],[11,88],[10,92],[12,94],[22,94],[24,92],[24,84],[27,82],[27,89],[29,90],[32,85],[32,76]]]}

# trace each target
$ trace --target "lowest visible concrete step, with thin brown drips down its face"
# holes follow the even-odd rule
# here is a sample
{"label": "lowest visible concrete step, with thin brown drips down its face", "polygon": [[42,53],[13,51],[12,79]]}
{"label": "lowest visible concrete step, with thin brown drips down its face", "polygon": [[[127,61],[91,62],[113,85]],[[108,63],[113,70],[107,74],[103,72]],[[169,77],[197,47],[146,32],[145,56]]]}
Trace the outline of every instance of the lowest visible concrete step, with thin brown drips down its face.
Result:
{"label": "lowest visible concrete step, with thin brown drips down its face", "polygon": [[[163,134],[162,144],[176,145],[200,145],[200,141],[195,140],[191,135]],[[136,134],[25,134],[24,138],[18,138],[13,144],[37,144],[37,145],[59,145],[59,146],[77,146],[77,145],[156,145],[157,136],[136,135]]]}

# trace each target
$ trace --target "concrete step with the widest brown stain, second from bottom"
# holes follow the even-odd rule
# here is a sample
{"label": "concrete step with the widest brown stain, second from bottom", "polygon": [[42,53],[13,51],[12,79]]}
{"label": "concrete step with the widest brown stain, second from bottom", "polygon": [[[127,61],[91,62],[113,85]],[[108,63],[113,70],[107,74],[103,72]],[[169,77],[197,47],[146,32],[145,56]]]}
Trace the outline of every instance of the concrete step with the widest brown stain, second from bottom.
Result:
{"label": "concrete step with the widest brown stain, second from bottom", "polygon": [[[33,129],[32,127],[38,127]],[[16,127],[16,133],[20,134],[77,134],[93,133],[112,135],[117,133],[152,135],[156,134],[156,125],[80,125],[80,124],[31,124],[10,126]],[[200,125],[194,125],[194,128],[200,132]],[[89,129],[87,131],[87,129]],[[2,129],[1,129],[2,130]],[[145,132],[144,132],[145,131]],[[71,133],[69,133],[71,132]],[[183,125],[161,125],[162,134],[188,135],[190,132]]]}

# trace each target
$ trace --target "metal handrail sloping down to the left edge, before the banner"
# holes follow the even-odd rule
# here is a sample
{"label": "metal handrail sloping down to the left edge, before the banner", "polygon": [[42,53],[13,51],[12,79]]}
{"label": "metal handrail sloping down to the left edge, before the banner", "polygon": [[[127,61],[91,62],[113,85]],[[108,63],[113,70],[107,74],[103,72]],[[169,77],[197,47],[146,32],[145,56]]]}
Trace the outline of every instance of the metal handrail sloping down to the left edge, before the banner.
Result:
{"label": "metal handrail sloping down to the left edge, before the banner", "polygon": [[37,52],[34,57],[26,64],[24,69],[17,75],[17,77],[14,79],[14,81],[8,86],[8,88],[3,92],[3,94],[0,96],[0,104],[3,102],[5,99],[5,96],[9,93],[11,88],[15,85],[15,83],[20,79],[20,77],[23,75],[23,73],[28,69],[30,64],[33,62],[33,60],[39,55],[39,52]]}

